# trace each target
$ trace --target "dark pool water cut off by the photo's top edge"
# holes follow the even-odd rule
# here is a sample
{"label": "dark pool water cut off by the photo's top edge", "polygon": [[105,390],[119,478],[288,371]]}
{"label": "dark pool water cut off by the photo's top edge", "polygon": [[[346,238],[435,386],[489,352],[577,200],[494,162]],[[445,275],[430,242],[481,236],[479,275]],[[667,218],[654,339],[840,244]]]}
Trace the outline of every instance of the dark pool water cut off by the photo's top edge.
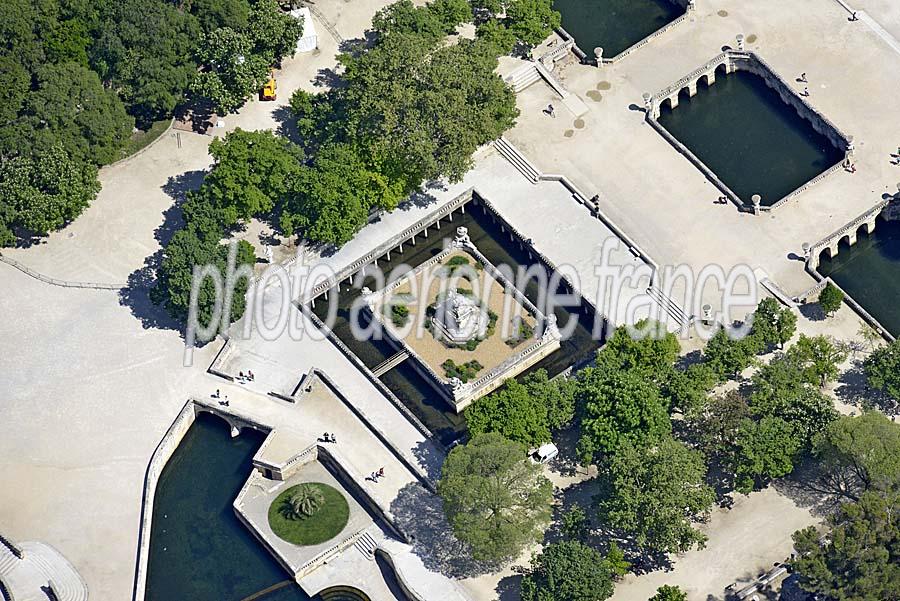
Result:
{"label": "dark pool water cut off by the photo's top edge", "polygon": [[612,58],[684,14],[668,0],[554,0],[553,8],[590,59],[597,47]]}

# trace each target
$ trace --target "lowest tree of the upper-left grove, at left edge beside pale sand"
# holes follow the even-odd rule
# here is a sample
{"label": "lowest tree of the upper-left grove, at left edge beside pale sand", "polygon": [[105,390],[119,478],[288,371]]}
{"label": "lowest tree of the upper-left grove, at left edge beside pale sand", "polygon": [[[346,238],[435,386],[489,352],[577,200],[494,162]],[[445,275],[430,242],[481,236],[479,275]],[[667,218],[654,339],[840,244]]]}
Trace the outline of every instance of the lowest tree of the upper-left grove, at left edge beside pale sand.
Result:
{"label": "lowest tree of the upper-left grove, at left edge beside pale sand", "polygon": [[37,235],[60,229],[99,191],[97,169],[59,145],[0,161],[0,246],[15,242],[13,228]]}

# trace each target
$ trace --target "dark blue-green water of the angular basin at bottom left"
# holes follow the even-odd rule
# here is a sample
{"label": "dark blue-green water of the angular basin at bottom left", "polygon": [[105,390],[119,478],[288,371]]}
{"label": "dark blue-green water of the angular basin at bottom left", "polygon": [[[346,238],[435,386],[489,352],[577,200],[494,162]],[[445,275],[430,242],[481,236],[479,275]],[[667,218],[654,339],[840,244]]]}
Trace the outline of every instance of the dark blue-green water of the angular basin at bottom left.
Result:
{"label": "dark blue-green water of the angular basin at bottom left", "polygon": [[[231,503],[264,435],[232,439],[227,424],[202,413],[156,486],[147,601],[240,601],[290,575],[234,515]],[[297,585],[259,601],[308,601]]]}

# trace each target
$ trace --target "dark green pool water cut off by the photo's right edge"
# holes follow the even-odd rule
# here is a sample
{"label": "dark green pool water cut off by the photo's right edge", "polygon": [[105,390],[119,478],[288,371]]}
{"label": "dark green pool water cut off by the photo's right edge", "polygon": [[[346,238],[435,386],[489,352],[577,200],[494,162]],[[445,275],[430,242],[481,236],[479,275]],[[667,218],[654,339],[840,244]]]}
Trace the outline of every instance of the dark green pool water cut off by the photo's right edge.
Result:
{"label": "dark green pool water cut off by the photo's right edge", "polygon": [[831,278],[894,336],[900,337],[900,222],[879,221],[871,235],[838,255],[822,255],[819,273]]}

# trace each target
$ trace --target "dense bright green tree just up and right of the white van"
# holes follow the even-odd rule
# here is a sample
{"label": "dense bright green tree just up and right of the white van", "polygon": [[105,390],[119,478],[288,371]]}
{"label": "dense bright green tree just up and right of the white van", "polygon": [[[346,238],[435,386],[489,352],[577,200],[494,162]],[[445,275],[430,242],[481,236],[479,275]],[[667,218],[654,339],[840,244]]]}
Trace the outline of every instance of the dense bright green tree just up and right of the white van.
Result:
{"label": "dense bright green tree just up and right of the white van", "polygon": [[657,387],[638,371],[587,368],[579,375],[576,400],[584,413],[578,450],[585,463],[615,453],[625,441],[651,446],[672,430]]}

